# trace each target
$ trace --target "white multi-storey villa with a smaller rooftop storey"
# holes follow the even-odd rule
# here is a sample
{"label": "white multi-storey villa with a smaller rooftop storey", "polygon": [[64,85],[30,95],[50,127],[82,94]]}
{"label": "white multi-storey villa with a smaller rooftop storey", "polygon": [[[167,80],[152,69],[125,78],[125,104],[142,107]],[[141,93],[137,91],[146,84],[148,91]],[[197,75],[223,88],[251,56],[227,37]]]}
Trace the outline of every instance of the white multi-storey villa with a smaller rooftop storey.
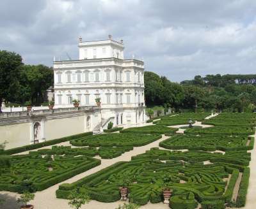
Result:
{"label": "white multi-storey villa with a smaller rooftop storey", "polygon": [[124,59],[124,43],[108,40],[82,41],[79,38],[79,59],[54,61],[54,108],[72,107],[73,99],[80,106],[101,102],[101,129],[108,122],[114,126],[136,126],[144,123],[144,62]]}

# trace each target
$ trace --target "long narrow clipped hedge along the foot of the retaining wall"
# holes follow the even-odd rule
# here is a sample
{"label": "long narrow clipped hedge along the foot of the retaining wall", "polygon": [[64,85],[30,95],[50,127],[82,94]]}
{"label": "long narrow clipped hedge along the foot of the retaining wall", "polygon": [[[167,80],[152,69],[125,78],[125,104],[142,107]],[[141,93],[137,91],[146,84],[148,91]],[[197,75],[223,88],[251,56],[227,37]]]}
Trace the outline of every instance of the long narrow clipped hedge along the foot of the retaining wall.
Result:
{"label": "long narrow clipped hedge along the foot of the retaining wall", "polygon": [[36,143],[33,145],[25,145],[22,147],[11,148],[9,150],[4,150],[3,154],[12,155],[12,154],[20,153],[20,152],[26,152],[28,150],[35,150],[36,148],[46,147],[46,146],[50,146],[50,145],[56,145],[57,143],[74,140],[74,139],[81,138],[84,136],[90,136],[92,134],[93,134],[92,132],[86,132],[86,133],[76,134],[76,135],[72,135],[72,136],[66,136],[63,138],[58,138],[56,140],[48,140],[48,141]]}

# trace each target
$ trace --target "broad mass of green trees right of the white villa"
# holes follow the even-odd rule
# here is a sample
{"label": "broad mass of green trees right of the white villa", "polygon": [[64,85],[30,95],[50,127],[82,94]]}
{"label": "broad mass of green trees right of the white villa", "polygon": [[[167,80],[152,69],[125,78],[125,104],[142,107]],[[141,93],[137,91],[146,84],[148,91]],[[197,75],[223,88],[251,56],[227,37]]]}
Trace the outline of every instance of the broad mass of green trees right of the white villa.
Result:
{"label": "broad mass of green trees right of the white villa", "polygon": [[169,106],[177,110],[204,108],[228,112],[252,112],[256,105],[256,75],[207,75],[173,83],[164,76],[145,71],[147,106]]}

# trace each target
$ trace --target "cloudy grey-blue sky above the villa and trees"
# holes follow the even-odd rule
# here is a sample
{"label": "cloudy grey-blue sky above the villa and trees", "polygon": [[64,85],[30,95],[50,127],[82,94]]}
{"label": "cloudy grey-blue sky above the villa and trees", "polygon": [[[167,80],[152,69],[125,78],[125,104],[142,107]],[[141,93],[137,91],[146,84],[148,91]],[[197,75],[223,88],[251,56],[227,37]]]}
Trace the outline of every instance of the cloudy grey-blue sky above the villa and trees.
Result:
{"label": "cloudy grey-blue sky above the villa and trees", "polygon": [[1,0],[0,50],[26,64],[77,59],[83,41],[124,40],[125,58],[174,82],[256,74],[255,0]]}

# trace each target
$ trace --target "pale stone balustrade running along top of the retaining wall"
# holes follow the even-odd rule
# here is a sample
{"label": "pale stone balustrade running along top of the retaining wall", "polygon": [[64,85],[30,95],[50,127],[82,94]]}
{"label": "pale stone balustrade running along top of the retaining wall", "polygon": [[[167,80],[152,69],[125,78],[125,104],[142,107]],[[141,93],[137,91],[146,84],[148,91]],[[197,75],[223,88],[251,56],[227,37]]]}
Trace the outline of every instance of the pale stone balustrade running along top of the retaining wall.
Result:
{"label": "pale stone balustrade running along top of the retaining wall", "polygon": [[65,112],[80,112],[80,111],[92,111],[100,110],[100,106],[79,106],[78,108],[58,108],[53,110],[34,110],[34,111],[22,111],[22,112],[11,112],[11,113],[0,113],[0,119],[10,117],[25,117],[33,115],[47,115],[53,113],[65,113]]}

